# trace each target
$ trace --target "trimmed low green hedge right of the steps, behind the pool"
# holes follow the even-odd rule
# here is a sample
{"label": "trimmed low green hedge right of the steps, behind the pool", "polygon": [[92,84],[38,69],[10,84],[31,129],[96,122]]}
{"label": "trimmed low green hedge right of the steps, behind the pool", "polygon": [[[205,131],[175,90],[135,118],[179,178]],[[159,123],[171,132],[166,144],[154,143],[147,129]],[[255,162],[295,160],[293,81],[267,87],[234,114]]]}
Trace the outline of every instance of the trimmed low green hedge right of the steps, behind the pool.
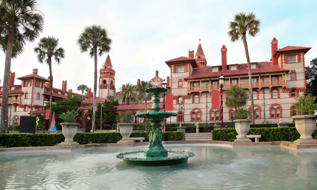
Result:
{"label": "trimmed low green hedge right of the steps, behind the pool", "polygon": [[[212,140],[234,141],[237,136],[235,129],[212,130]],[[271,127],[271,128],[251,128],[248,135],[261,135],[260,142],[290,141],[300,138],[300,134],[295,127]],[[317,129],[313,133],[317,138]]]}

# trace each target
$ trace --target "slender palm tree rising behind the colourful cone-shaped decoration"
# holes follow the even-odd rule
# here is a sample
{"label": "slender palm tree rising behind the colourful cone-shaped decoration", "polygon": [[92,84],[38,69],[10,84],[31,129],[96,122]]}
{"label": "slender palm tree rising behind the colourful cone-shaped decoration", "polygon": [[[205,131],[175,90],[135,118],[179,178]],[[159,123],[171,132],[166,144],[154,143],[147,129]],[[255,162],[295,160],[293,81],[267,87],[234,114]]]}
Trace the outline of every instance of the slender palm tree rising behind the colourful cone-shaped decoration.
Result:
{"label": "slender palm tree rising behind the colourful cone-shaped decoration", "polygon": [[42,37],[40,42],[34,47],[34,52],[37,54],[39,63],[49,65],[49,124],[52,122],[52,102],[53,102],[53,75],[52,75],[52,57],[57,64],[61,63],[61,59],[65,58],[65,50],[59,47],[59,39],[54,36]]}

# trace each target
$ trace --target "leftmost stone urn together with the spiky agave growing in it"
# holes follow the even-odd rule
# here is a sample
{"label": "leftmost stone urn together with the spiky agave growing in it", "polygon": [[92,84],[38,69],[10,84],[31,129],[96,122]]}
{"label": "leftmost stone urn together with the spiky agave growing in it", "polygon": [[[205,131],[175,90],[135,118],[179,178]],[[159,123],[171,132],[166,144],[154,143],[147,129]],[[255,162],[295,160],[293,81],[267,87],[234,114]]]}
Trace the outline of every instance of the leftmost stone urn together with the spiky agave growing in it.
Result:
{"label": "leftmost stone urn together with the spiky agave growing in it", "polygon": [[61,127],[63,130],[63,135],[65,137],[65,141],[59,143],[61,146],[72,146],[79,145],[79,143],[74,142],[74,136],[77,133],[77,128],[80,125],[79,123],[74,123],[77,118],[79,118],[79,113],[77,111],[67,111],[61,114],[60,118],[64,121],[61,123]]}

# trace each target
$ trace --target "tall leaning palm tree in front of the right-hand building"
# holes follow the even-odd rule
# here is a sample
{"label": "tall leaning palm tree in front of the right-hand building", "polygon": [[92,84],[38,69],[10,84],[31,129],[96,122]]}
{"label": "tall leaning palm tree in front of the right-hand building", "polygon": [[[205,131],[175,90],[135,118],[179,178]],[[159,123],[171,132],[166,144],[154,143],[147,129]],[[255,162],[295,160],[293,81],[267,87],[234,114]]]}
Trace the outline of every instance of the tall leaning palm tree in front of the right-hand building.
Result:
{"label": "tall leaning palm tree in front of the right-hand building", "polygon": [[238,41],[239,39],[242,39],[243,41],[245,56],[247,58],[247,63],[248,63],[253,124],[254,124],[254,107],[253,107],[253,96],[252,96],[251,63],[250,63],[246,35],[248,33],[250,36],[255,37],[260,32],[260,25],[261,25],[261,21],[256,19],[256,15],[253,12],[248,13],[247,15],[244,12],[237,13],[235,15],[234,21],[229,23],[230,31],[228,32],[228,35],[230,36],[232,42]]}

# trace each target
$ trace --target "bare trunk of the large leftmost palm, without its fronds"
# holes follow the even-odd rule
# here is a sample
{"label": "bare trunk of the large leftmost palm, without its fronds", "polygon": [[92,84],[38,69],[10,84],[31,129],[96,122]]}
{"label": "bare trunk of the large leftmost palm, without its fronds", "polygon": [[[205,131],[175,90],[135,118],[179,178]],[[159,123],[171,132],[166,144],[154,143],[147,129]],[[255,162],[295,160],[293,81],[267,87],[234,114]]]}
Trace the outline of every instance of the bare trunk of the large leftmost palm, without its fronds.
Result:
{"label": "bare trunk of the large leftmost palm, without its fronds", "polygon": [[3,94],[1,103],[1,133],[6,133],[8,129],[8,101],[9,101],[9,79],[10,79],[10,69],[11,69],[11,56],[13,50],[14,41],[14,27],[9,26],[9,36],[8,36],[8,46],[7,52],[5,54],[5,64],[4,64],[4,76],[3,76]]}

